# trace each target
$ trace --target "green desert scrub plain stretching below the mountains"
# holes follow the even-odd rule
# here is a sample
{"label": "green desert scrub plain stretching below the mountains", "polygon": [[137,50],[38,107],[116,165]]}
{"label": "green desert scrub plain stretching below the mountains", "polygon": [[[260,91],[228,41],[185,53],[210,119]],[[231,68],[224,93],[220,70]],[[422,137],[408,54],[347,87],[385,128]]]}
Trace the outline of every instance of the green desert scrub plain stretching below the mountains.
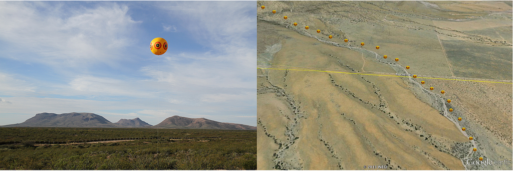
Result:
{"label": "green desert scrub plain stretching below the mountains", "polygon": [[[158,131],[142,128],[0,128],[2,142],[19,141],[0,145],[0,169],[257,169],[256,131]],[[140,139],[73,143],[123,137]]]}

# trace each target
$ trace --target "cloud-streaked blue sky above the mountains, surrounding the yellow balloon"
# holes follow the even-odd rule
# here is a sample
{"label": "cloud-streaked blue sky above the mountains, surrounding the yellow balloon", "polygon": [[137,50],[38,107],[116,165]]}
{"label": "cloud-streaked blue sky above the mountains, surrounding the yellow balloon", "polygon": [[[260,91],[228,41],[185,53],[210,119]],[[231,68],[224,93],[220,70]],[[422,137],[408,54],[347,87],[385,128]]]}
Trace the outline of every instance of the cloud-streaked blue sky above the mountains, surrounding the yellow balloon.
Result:
{"label": "cloud-streaked blue sky above the mountains, surrounding the yellow balloon", "polygon": [[[256,126],[254,1],[0,1],[0,125],[92,112]],[[167,40],[166,54],[149,43]]]}

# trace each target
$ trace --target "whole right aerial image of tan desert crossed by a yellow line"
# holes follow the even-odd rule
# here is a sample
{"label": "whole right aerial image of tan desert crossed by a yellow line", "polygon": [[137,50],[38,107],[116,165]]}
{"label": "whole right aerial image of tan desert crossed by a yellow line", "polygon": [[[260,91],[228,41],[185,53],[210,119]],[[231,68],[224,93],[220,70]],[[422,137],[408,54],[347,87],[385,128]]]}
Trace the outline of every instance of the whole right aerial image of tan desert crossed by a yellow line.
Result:
{"label": "whole right aerial image of tan desert crossed by a yellow line", "polygon": [[513,169],[512,1],[257,1],[257,168]]}

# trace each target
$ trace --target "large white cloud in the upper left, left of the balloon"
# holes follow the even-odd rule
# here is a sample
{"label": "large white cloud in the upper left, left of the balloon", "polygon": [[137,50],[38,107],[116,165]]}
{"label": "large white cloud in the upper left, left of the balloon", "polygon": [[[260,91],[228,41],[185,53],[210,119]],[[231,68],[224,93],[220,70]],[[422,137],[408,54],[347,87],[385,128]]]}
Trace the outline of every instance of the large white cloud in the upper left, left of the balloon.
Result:
{"label": "large white cloud in the upper left, left of the balloon", "polygon": [[114,3],[68,9],[63,3],[3,1],[0,39],[12,44],[12,52],[41,55],[15,57],[24,62],[52,67],[87,67],[97,62],[116,65],[114,61],[122,59],[120,50],[133,42],[128,36],[138,23],[127,11],[128,7]]}

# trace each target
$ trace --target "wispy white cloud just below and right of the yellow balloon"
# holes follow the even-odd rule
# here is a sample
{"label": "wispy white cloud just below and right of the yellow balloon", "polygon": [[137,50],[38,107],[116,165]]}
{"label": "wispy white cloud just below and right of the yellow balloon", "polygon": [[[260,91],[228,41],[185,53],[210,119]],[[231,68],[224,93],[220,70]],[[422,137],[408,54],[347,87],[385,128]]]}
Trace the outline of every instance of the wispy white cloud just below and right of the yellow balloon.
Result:
{"label": "wispy white cloud just below and right of the yellow balloon", "polygon": [[[250,54],[246,54],[248,58]],[[247,88],[256,87],[256,70],[244,64],[233,62],[235,55],[169,54],[160,67],[145,66],[141,69],[145,75],[160,82],[176,87],[194,86],[210,88]],[[189,63],[182,60],[192,61]],[[253,73],[254,72],[254,73]],[[175,87],[175,88],[176,88]]]}

